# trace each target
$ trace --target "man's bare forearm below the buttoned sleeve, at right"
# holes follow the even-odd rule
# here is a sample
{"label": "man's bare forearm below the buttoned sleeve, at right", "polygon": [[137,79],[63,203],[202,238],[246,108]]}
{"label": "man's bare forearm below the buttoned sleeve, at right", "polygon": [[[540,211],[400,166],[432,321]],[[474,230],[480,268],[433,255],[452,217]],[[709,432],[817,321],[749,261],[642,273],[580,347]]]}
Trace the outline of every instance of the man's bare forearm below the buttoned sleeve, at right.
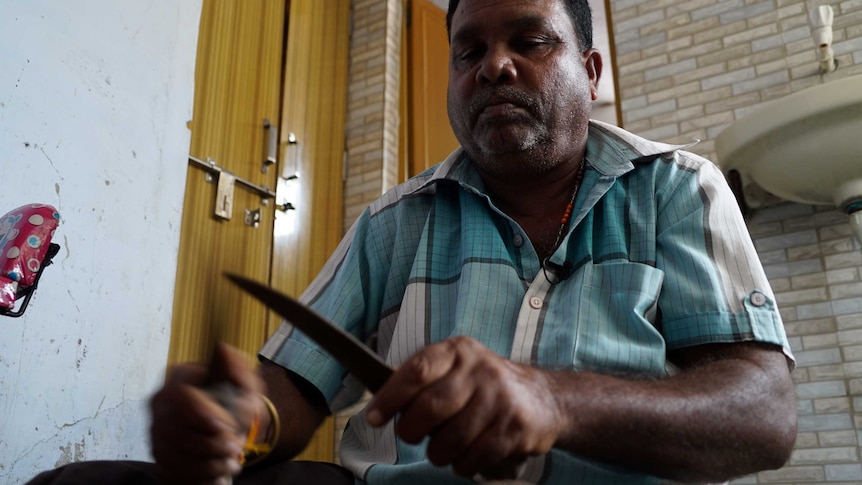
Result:
{"label": "man's bare forearm below the buttoned sleeve, at right", "polygon": [[731,345],[685,356],[683,372],[661,380],[549,373],[567,417],[556,446],[691,482],[780,467],[796,437],[785,357]]}

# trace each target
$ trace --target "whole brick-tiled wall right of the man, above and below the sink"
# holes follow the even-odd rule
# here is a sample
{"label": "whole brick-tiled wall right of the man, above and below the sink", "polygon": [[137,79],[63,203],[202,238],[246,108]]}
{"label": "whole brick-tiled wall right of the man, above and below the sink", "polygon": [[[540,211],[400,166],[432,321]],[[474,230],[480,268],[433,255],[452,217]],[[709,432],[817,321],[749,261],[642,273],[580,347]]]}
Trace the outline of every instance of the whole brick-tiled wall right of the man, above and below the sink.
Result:
{"label": "whole brick-tiled wall right of the man, above and below the sink", "polygon": [[[835,13],[837,71],[818,73],[808,9]],[[714,140],[763,103],[862,74],[862,0],[612,0],[623,125],[715,160]],[[781,203],[749,230],[798,359],[788,466],[734,483],[862,483],[862,249],[832,207]]]}

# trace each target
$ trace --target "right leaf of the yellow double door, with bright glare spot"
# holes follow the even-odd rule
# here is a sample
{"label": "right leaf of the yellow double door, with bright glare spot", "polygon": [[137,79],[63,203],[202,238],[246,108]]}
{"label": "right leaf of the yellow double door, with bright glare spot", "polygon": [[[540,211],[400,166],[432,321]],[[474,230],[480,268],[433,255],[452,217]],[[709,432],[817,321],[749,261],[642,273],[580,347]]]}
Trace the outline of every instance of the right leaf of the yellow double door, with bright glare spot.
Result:
{"label": "right leaf of the yellow double door, with bright glare spot", "polygon": [[[284,69],[279,197],[271,283],[299,295],[343,236],[350,0],[292,0]],[[270,315],[274,331],[281,319]],[[297,459],[333,461],[327,419]]]}

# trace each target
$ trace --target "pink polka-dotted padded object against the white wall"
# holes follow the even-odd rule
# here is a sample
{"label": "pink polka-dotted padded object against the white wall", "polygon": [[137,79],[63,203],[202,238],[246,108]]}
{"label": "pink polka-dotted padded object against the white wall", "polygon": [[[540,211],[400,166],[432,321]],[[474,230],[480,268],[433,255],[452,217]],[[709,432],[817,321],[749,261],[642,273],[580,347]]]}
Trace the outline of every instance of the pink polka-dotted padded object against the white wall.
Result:
{"label": "pink polka-dotted padded object against the white wall", "polygon": [[24,313],[42,270],[60,250],[51,242],[59,223],[57,209],[44,204],[25,205],[0,217],[0,315]]}

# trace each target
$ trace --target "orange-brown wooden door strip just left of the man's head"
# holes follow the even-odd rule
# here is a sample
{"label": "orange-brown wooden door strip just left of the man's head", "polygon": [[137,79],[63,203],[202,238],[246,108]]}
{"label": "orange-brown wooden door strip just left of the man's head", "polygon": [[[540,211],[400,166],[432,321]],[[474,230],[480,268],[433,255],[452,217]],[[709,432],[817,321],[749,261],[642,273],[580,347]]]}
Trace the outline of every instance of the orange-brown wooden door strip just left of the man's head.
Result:
{"label": "orange-brown wooden door strip just left of the man's head", "polygon": [[407,99],[407,176],[412,176],[443,161],[458,146],[458,140],[446,111],[446,12],[428,0],[409,0],[407,11],[408,45],[402,56],[407,82],[402,96]]}

